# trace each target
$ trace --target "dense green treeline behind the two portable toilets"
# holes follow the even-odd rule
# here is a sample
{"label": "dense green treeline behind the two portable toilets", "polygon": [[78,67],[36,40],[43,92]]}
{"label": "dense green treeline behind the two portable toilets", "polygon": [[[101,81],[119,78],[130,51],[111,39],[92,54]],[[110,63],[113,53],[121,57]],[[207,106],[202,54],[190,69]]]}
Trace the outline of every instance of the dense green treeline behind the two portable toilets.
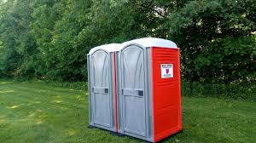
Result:
{"label": "dense green treeline behind the two portable toilets", "polygon": [[85,81],[91,48],[139,37],[178,44],[186,92],[255,91],[256,0],[0,0],[0,77]]}

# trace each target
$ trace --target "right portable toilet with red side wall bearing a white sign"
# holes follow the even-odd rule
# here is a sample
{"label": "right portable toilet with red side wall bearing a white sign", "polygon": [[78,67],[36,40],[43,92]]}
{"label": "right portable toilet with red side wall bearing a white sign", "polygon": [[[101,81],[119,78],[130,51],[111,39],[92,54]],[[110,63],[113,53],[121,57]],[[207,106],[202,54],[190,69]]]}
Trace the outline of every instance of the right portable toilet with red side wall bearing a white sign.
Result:
{"label": "right portable toilet with red side wall bearing a white sign", "polygon": [[177,44],[146,37],[117,54],[118,132],[156,142],[182,130]]}

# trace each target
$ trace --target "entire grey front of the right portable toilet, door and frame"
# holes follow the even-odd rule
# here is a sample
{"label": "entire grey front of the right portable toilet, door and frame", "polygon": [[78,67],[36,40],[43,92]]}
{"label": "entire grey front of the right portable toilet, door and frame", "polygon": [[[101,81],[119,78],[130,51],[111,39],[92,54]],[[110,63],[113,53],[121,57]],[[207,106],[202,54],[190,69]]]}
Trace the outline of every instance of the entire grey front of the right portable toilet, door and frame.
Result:
{"label": "entire grey front of the right portable toilet, door and frame", "polygon": [[118,132],[153,141],[150,48],[137,43],[117,52]]}

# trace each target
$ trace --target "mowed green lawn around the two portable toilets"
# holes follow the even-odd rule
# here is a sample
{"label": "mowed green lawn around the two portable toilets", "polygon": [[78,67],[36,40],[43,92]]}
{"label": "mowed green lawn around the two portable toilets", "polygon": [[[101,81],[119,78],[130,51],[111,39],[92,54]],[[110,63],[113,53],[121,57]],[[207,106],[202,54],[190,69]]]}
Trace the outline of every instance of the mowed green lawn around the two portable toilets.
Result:
{"label": "mowed green lawn around the two portable toilets", "polygon": [[[256,142],[256,104],[183,97],[183,133],[163,142]],[[88,94],[0,80],[1,143],[144,142],[88,129]]]}

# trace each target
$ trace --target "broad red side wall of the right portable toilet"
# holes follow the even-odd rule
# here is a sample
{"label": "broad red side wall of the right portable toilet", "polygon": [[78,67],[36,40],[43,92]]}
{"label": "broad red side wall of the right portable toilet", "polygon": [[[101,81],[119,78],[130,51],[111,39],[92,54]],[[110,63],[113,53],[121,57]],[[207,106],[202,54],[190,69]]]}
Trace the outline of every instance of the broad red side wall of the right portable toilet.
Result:
{"label": "broad red side wall of the right portable toilet", "polygon": [[[152,48],[151,55],[155,142],[182,129],[181,81],[179,49]],[[173,77],[163,78],[161,64],[172,64]]]}

